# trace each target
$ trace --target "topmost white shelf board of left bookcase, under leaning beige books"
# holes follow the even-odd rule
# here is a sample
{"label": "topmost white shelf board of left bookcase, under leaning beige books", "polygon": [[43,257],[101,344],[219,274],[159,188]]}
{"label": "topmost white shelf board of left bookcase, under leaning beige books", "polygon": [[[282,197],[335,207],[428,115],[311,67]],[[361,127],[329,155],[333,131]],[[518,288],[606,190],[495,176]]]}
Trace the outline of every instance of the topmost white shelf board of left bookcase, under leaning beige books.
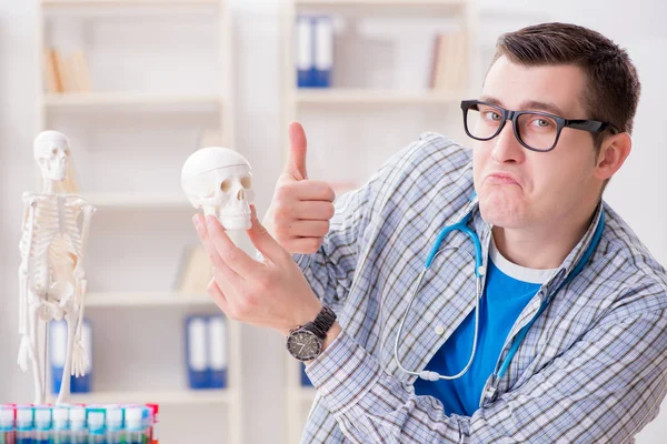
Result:
{"label": "topmost white shelf board of left bookcase, under leaning beige books", "polygon": [[44,105],[50,108],[109,107],[109,105],[221,105],[217,93],[166,94],[143,92],[68,92],[47,93]]}

